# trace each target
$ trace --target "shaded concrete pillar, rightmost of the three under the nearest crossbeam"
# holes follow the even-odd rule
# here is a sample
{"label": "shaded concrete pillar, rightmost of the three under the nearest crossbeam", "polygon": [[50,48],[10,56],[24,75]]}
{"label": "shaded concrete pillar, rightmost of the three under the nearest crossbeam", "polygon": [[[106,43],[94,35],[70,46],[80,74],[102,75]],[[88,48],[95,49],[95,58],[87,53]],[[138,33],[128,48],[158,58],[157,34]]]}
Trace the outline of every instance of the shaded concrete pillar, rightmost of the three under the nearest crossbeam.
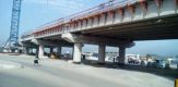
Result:
{"label": "shaded concrete pillar, rightmost of the three under the nearest crossbeam", "polygon": [[124,65],[124,55],[126,55],[126,47],[119,47],[118,62],[120,65]]}

